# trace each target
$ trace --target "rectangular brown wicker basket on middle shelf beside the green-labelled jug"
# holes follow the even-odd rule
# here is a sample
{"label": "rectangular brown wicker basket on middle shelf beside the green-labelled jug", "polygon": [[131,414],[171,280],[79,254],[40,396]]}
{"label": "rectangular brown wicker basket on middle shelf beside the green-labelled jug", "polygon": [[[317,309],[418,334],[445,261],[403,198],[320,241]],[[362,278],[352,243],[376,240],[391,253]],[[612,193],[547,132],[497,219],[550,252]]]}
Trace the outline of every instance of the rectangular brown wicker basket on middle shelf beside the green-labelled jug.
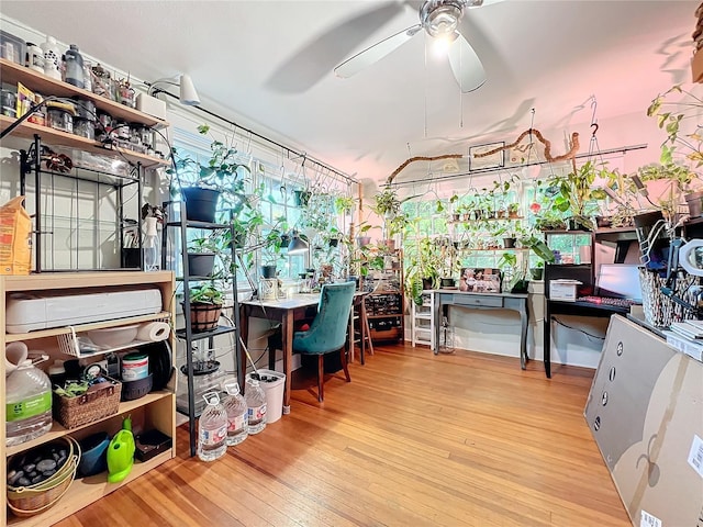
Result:
{"label": "rectangular brown wicker basket on middle shelf beside the green-labelled jug", "polygon": [[54,418],[66,428],[76,428],[114,415],[120,410],[122,383],[108,378],[77,397],[54,395]]}

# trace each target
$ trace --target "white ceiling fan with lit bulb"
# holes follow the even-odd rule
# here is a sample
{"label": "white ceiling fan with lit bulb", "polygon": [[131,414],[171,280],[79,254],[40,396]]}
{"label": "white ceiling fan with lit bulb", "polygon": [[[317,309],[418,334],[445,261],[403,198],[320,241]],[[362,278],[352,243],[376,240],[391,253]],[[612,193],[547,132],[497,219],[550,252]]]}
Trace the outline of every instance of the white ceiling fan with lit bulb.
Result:
{"label": "white ceiling fan with lit bulb", "polygon": [[334,68],[337,77],[348,78],[380,60],[413,36],[425,30],[435,38],[448,41],[447,56],[461,92],[473,91],[486,82],[486,70],[471,45],[459,32],[459,22],[467,8],[478,8],[501,0],[425,0],[420,5],[420,23],[357,53]]}

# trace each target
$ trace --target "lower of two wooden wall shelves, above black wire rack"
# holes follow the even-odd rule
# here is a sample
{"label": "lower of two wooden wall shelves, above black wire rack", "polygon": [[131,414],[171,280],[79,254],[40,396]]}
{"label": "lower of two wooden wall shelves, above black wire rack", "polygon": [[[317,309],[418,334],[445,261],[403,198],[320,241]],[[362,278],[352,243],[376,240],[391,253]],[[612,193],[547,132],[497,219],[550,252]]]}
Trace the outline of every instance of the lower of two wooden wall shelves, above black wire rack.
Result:
{"label": "lower of two wooden wall shelves, above black wire rack", "polygon": [[[4,131],[8,126],[14,123],[14,121],[15,119],[13,117],[0,115],[0,131]],[[48,126],[30,123],[27,121],[23,122],[22,124],[20,124],[20,126],[14,128],[11,137],[16,136],[26,139],[33,139],[34,134],[37,134],[42,137],[42,143],[52,146],[78,148],[83,152],[89,152],[90,154],[129,160],[130,162],[134,164],[141,162],[142,166],[146,168],[170,165],[170,161],[161,159],[160,157],[147,156],[145,154],[140,154],[138,152],[125,150],[124,148],[105,148],[102,143],[99,143],[97,141],[88,139],[79,135],[69,134],[67,132],[62,132],[60,130],[54,130]],[[8,138],[3,141],[7,139]]]}

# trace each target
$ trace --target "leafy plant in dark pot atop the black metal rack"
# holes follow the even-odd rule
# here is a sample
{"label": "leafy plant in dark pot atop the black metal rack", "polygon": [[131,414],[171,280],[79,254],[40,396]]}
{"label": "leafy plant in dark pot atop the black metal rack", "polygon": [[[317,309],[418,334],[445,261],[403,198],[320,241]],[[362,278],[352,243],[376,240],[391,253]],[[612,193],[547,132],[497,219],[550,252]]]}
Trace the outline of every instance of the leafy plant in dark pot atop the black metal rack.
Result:
{"label": "leafy plant in dark pot atop the black metal rack", "polygon": [[[198,133],[208,135],[210,126],[198,126]],[[201,162],[199,159],[182,156],[177,148],[172,149],[174,167],[166,172],[174,176],[180,186],[188,220],[214,222],[220,195],[226,193],[233,197],[227,201],[234,202],[239,201],[244,191],[244,177],[241,176],[241,171],[248,172],[249,168],[236,161],[237,150],[213,138],[210,153],[210,158]]]}

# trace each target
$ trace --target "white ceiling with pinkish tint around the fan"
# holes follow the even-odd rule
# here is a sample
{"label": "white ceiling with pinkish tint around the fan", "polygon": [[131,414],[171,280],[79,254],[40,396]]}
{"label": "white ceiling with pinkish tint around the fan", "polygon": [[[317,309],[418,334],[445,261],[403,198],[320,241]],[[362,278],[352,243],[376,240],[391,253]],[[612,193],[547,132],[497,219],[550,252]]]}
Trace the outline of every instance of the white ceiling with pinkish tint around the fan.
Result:
{"label": "white ceiling with pinkish tint around the fan", "polygon": [[591,96],[603,121],[644,112],[657,93],[690,80],[699,2],[670,0],[471,9],[461,32],[488,81],[464,96],[446,59],[427,53],[425,65],[424,34],[336,78],[344,58],[417,23],[411,2],[386,2],[398,14],[382,23],[380,3],[3,0],[0,10],[136,78],[188,72],[205,108],[358,179],[386,179],[410,155],[510,142],[529,127],[533,108],[536,127],[568,131],[590,122]]}

